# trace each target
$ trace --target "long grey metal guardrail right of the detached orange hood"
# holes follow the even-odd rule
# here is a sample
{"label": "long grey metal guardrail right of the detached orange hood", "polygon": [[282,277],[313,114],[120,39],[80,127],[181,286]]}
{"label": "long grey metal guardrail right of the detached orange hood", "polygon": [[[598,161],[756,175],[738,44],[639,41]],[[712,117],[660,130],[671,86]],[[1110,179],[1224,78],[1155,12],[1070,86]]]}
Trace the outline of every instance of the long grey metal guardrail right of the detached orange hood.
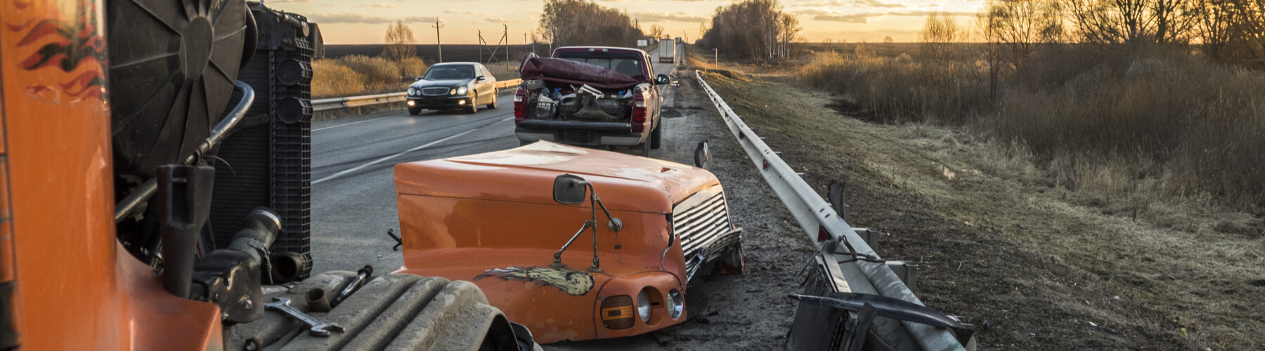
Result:
{"label": "long grey metal guardrail right of the detached orange hood", "polygon": [[[716,93],[698,71],[694,77],[707,92],[707,97],[716,105],[716,110],[724,116],[729,130],[737,138],[746,155],[760,168],[760,176],[769,183],[773,192],[778,194],[782,203],[787,206],[791,215],[799,222],[808,239],[816,242],[818,250],[829,242],[841,242],[846,240],[856,254],[879,258],[877,253],[844,221],[830,203],[821,198],[812,187],[808,186],[788,165],[782,157],[773,152],[764,140],[753,131],[743,119],[730,109],[729,104]],[[827,235],[827,240],[818,240]],[[846,280],[846,287],[839,287],[844,292],[878,294],[889,298],[923,306],[913,292],[892,271],[887,264],[870,261],[854,261],[839,265],[841,275]],[[840,284],[844,282],[839,282]],[[965,350],[965,347],[946,328],[936,328],[913,322],[901,322],[910,337],[912,337],[922,350]]]}

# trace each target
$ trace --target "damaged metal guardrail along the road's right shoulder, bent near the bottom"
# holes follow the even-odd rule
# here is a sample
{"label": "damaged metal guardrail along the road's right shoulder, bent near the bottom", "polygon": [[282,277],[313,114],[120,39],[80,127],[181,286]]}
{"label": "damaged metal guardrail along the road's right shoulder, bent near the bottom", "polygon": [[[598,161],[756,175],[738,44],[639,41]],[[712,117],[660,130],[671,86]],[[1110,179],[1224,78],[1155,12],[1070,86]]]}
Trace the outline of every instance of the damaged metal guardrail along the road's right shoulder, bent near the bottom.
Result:
{"label": "damaged metal guardrail along the road's right shoulder, bent near the bottom", "polygon": [[[869,244],[861,240],[856,231],[839,213],[835,213],[831,205],[822,199],[769,145],[764,144],[764,140],[760,140],[746,126],[743,119],[725,104],[724,98],[707,85],[707,81],[703,80],[698,71],[694,71],[694,77],[707,92],[707,97],[716,105],[716,110],[724,116],[725,124],[734,136],[737,138],[746,155],[760,168],[760,176],[764,177],[769,187],[773,188],[778,198],[789,210],[791,215],[799,222],[799,227],[803,229],[810,240],[816,242],[817,249],[821,251],[821,255],[817,255],[815,259],[818,268],[817,271],[821,271],[822,277],[810,277],[810,279],[818,279],[818,283],[824,280],[829,290],[834,293],[877,294],[923,306],[922,300],[913,295],[913,292],[879,259],[879,255],[874,253]],[[853,250],[836,251],[845,246],[850,246]],[[848,260],[845,258],[840,261],[835,258],[835,254],[850,255],[851,258],[864,256],[867,259]],[[840,279],[836,279],[837,277],[842,277],[842,280],[846,282],[840,282]],[[825,321],[822,322],[825,324]],[[888,343],[896,341],[897,345],[889,346],[897,350],[911,347],[931,351],[965,350],[961,342],[947,328],[907,321],[896,323],[894,319],[888,319],[887,322],[875,321],[870,331],[879,335]],[[821,335],[821,337],[829,338],[830,331],[824,332],[826,335]],[[916,346],[910,345],[911,340]],[[789,345],[788,348],[791,348]]]}

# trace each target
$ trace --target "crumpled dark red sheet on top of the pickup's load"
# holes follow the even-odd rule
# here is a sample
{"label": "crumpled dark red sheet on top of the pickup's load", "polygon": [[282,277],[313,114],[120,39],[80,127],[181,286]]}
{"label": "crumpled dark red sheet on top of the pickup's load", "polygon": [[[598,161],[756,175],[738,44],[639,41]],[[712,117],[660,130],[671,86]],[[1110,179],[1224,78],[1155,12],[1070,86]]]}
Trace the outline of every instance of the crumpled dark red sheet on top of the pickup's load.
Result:
{"label": "crumpled dark red sheet on top of the pickup's load", "polygon": [[520,67],[519,74],[524,81],[544,80],[577,86],[589,85],[596,88],[627,88],[644,82],[597,64],[539,57],[535,53],[524,56]]}

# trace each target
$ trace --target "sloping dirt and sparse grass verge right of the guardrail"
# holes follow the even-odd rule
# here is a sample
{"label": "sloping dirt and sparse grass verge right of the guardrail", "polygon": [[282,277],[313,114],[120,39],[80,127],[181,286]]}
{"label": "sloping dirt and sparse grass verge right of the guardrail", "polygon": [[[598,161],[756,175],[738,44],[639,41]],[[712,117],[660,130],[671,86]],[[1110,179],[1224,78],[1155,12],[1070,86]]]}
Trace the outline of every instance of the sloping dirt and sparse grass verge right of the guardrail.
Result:
{"label": "sloping dirt and sparse grass verge right of the guardrail", "polygon": [[[1189,225],[1147,222],[970,133],[863,122],[784,76],[707,77],[813,188],[846,182],[850,223],[891,232],[875,250],[920,263],[918,297],[983,327],[980,350],[1265,347],[1260,218],[1207,208]],[[796,283],[774,273],[763,287]],[[751,300],[778,307],[755,318],[789,311]]]}

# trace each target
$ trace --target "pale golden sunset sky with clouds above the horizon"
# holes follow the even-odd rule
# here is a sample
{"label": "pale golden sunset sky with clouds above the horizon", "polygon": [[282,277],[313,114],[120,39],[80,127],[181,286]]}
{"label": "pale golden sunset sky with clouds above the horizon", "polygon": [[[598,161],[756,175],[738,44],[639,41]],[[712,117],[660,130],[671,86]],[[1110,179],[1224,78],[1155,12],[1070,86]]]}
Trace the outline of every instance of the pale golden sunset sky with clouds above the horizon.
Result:
{"label": "pale golden sunset sky with clouds above the horizon", "polygon": [[[626,10],[643,29],[663,25],[672,37],[698,37],[698,24],[711,21],[717,6],[729,0],[598,0],[607,8]],[[383,42],[388,23],[397,19],[412,29],[420,44],[435,43],[435,16],[440,18],[444,43],[476,44],[478,30],[496,43],[509,25],[510,44],[522,44],[524,34],[535,30],[540,0],[272,0],[269,8],[306,15],[321,25],[326,44],[376,44]],[[824,39],[882,42],[917,40],[930,11],[960,15],[968,25],[983,1],[950,0],[783,0],[782,6],[799,19],[810,42]]]}

